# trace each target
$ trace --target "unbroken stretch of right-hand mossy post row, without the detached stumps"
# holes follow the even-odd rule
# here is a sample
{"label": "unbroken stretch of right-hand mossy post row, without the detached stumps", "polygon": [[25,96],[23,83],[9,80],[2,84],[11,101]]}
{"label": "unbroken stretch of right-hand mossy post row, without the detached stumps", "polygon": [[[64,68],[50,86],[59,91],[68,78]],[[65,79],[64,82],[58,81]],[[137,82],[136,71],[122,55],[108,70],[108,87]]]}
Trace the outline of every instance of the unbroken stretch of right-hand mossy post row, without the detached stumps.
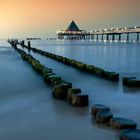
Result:
{"label": "unbroken stretch of right-hand mossy post row, without the detached stumps", "polygon": [[40,49],[33,48],[33,47],[31,47],[31,44],[29,41],[28,41],[28,45],[25,45],[24,41],[21,41],[19,44],[22,47],[27,48],[29,51],[32,50],[35,53],[39,53],[43,56],[52,58],[52,59],[54,59],[58,62],[61,62],[63,64],[75,67],[75,68],[79,69],[80,71],[94,74],[95,76],[98,76],[100,78],[103,78],[103,79],[106,79],[109,81],[115,81],[115,82],[119,81],[119,73],[117,73],[117,72],[106,71],[106,70],[99,68],[99,67],[96,67],[94,65],[88,65],[86,63],[83,63],[83,62],[80,62],[80,61],[77,61],[74,59],[70,59],[67,57],[63,57],[60,55],[56,55],[56,54],[53,54],[50,52],[46,52],[46,51],[43,51]]}

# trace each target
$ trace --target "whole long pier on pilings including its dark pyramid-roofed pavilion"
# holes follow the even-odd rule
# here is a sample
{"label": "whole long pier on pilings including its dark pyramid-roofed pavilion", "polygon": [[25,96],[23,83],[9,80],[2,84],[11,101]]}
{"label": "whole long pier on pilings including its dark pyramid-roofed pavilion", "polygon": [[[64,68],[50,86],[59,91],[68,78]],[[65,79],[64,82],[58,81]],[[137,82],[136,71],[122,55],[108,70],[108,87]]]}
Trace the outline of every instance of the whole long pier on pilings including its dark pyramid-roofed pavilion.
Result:
{"label": "whole long pier on pilings including its dark pyramid-roofed pavilion", "polygon": [[80,30],[74,21],[66,30],[57,31],[60,40],[112,40],[121,41],[125,35],[125,40],[130,41],[130,35],[135,34],[135,41],[140,41],[140,27],[125,27],[117,29],[103,29],[94,31]]}

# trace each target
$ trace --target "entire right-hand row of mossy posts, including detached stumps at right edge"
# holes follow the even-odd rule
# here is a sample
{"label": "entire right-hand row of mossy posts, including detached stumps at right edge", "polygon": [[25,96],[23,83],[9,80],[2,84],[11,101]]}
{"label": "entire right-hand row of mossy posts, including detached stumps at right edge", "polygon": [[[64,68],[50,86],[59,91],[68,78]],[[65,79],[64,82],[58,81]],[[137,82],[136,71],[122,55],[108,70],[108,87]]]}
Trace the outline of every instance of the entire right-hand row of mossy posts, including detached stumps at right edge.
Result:
{"label": "entire right-hand row of mossy posts, including detached stumps at right edge", "polygon": [[[32,50],[34,53],[38,53],[45,57],[49,57],[53,60],[56,60],[60,63],[65,64],[65,65],[75,67],[80,71],[93,74],[99,78],[106,79],[109,81],[114,81],[114,82],[119,81],[119,73],[117,73],[117,72],[106,71],[106,70],[96,67],[94,65],[88,65],[86,63],[83,63],[83,62],[80,62],[80,61],[77,61],[74,59],[70,59],[70,58],[67,58],[64,56],[56,55],[56,54],[53,54],[53,53],[50,53],[47,51],[33,48],[33,47],[31,47],[30,41],[28,41],[27,45],[25,45],[25,41],[21,41],[19,44],[23,48],[24,47],[27,48],[29,51]],[[122,81],[123,81],[122,85],[126,86],[128,88],[139,88],[140,87],[140,80],[137,79],[136,77],[123,77]]]}

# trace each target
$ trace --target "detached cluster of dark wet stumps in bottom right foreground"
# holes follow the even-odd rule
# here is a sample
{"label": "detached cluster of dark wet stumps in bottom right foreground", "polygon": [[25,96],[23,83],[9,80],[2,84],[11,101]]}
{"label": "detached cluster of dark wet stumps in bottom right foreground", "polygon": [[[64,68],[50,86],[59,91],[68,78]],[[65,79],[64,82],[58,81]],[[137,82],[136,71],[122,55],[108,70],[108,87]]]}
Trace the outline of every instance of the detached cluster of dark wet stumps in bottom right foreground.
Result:
{"label": "detached cluster of dark wet stumps in bottom right foreground", "polygon": [[140,129],[136,129],[136,122],[115,117],[108,106],[95,104],[91,108],[91,116],[97,124],[119,131],[120,140],[140,140]]}

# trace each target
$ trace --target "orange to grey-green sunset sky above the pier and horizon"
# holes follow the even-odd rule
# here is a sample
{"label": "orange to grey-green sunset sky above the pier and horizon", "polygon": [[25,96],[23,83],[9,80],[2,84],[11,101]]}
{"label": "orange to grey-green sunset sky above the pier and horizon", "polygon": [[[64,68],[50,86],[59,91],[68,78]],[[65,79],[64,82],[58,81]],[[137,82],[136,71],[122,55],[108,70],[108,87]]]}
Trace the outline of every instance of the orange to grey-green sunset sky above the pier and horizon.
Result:
{"label": "orange to grey-green sunset sky above the pier and horizon", "polygon": [[0,0],[0,38],[55,37],[80,29],[140,26],[140,0]]}

